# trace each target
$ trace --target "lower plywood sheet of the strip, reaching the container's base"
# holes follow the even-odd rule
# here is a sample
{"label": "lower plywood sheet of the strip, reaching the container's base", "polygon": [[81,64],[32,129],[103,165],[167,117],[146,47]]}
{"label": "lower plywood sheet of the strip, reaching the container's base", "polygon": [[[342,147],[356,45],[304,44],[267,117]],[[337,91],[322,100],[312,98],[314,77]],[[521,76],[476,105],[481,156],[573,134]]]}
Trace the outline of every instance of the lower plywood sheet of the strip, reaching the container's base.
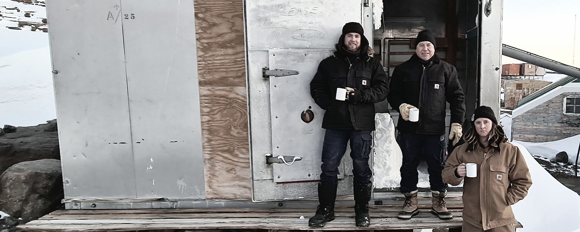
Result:
{"label": "lower plywood sheet of the strip, reaching the container's base", "polygon": [[245,87],[200,87],[208,199],[251,199]]}

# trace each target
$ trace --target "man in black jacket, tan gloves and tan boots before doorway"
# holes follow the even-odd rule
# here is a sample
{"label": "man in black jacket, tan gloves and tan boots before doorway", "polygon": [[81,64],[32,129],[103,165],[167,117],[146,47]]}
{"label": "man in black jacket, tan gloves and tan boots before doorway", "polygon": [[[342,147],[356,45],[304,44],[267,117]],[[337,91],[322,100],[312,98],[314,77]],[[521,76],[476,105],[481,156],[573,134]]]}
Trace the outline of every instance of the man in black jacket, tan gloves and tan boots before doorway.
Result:
{"label": "man in black jacket, tan gloves and tan boots before doorway", "polygon": [[[432,191],[431,212],[440,219],[451,219],[444,201],[447,184],[441,178],[447,157],[445,109],[449,103],[449,139],[455,145],[462,136],[465,96],[455,67],[435,54],[433,32],[419,32],[415,45],[415,54],[411,59],[394,69],[387,96],[390,106],[400,113],[397,123],[398,143],[403,151],[400,191],[405,195],[405,202],[398,218],[411,219],[419,213],[417,167],[420,157],[425,155]],[[419,109],[419,120],[416,122],[409,121],[411,108]]]}

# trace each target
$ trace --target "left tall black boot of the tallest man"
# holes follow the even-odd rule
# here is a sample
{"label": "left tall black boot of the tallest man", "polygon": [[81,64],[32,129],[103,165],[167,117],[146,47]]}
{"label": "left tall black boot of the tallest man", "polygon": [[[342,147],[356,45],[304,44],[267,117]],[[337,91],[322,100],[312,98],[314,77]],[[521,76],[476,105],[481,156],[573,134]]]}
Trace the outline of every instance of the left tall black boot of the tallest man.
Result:
{"label": "left tall black boot of the tallest man", "polygon": [[318,202],[316,215],[308,220],[308,226],[323,227],[326,222],[334,220],[334,202],[336,200],[336,184],[323,186],[318,183]]}

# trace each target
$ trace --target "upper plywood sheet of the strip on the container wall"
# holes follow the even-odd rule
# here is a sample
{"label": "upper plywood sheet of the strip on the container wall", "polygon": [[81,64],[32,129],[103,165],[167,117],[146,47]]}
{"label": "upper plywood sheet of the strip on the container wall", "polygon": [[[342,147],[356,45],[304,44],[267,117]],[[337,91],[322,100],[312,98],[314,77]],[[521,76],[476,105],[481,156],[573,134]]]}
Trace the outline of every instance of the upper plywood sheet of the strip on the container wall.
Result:
{"label": "upper plywood sheet of the strip on the container wall", "polygon": [[242,0],[195,0],[200,86],[246,86]]}

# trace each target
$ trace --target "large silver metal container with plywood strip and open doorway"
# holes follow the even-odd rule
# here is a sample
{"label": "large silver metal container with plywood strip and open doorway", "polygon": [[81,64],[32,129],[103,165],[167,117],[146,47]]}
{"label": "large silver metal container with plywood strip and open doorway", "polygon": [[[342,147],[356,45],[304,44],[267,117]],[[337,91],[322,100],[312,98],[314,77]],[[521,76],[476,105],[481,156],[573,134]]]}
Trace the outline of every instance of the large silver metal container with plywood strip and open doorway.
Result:
{"label": "large silver metal container with plywood strip and open doorway", "polygon": [[[46,3],[66,209],[277,208],[255,202],[316,197],[324,110],[308,84],[350,21],[383,41],[387,70],[429,28],[458,70],[466,117],[479,105],[499,112],[502,1],[233,2]],[[376,106],[396,121],[386,102]],[[339,195],[352,194],[345,157]]]}

